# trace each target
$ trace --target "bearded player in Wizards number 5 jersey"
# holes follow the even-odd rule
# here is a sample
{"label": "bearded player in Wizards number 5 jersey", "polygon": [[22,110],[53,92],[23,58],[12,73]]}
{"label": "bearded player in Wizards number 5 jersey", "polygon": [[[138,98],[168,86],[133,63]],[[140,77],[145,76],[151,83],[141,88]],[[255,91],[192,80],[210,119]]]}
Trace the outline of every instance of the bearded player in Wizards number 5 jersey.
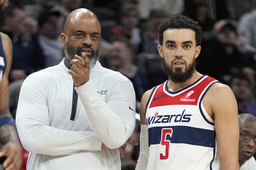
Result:
{"label": "bearded player in Wizards number 5 jersey", "polygon": [[201,35],[197,22],[183,15],[159,27],[169,80],[142,97],[136,170],[239,168],[237,102],[228,86],[195,71]]}

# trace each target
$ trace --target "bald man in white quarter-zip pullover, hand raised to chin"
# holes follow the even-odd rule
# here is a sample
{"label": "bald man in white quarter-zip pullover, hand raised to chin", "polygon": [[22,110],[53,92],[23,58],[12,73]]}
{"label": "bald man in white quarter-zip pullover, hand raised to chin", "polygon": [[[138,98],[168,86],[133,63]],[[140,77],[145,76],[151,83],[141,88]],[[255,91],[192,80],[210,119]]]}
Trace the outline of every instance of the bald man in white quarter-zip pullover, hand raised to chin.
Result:
{"label": "bald man in white quarter-zip pullover, hand raised to chin", "polygon": [[16,123],[28,170],[121,169],[125,142],[135,144],[133,85],[100,65],[100,38],[93,12],[74,10],[61,34],[63,61],[24,81]]}

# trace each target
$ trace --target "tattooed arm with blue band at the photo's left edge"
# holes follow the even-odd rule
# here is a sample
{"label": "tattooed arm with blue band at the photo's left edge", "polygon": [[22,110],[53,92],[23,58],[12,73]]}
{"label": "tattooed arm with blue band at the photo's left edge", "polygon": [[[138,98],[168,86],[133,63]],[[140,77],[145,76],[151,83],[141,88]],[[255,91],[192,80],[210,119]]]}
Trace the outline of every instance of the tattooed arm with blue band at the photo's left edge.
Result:
{"label": "tattooed arm with blue band at the photo's left edge", "polygon": [[[7,170],[19,169],[22,165],[21,145],[19,142],[15,121],[9,110],[9,82],[8,75],[12,62],[12,43],[10,38],[1,33],[3,48],[5,50],[7,66],[2,82],[0,83],[0,142],[3,145],[0,150],[0,157],[6,155],[8,158],[3,163]],[[13,125],[8,123],[13,122]]]}

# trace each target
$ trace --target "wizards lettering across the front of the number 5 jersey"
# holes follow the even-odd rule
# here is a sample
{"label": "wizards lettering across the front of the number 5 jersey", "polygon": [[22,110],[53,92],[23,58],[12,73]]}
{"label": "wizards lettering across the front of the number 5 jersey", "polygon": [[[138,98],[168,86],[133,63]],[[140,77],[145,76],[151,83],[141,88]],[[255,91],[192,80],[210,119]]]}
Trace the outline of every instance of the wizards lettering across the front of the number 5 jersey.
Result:
{"label": "wizards lettering across the front of the number 5 jersey", "polygon": [[173,122],[189,122],[190,116],[192,114],[184,114],[185,109],[183,110],[182,114],[166,114],[166,115],[158,115],[159,113],[156,112],[154,116],[146,118],[147,125],[155,124],[155,123],[170,123]]}

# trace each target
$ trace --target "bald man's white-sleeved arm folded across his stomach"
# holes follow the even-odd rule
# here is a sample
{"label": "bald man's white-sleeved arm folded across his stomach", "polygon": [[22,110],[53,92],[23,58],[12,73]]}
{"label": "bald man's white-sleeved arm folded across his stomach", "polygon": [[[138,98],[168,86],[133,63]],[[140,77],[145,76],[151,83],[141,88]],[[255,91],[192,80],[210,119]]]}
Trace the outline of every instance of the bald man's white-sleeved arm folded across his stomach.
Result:
{"label": "bald man's white-sleeved arm folded across his stomach", "polygon": [[16,124],[23,147],[29,152],[53,156],[101,150],[102,142],[93,131],[69,131],[50,126],[50,101],[46,90],[50,87],[42,76],[35,76],[25,79],[19,95]]}

